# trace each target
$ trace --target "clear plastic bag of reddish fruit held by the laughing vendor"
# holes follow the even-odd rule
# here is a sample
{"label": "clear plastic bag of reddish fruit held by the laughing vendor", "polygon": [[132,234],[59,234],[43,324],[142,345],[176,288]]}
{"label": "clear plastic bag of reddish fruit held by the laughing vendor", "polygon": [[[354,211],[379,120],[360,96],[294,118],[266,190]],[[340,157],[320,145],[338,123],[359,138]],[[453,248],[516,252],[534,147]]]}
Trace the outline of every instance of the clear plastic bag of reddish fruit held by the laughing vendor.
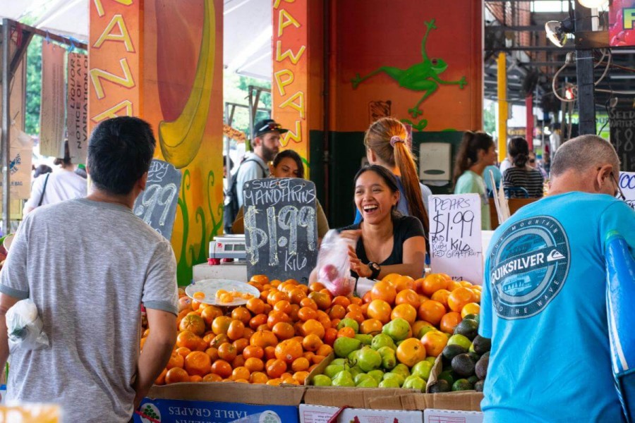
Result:
{"label": "clear plastic bag of reddish fruit held by the laughing vendor", "polygon": [[349,240],[331,230],[322,240],[317,255],[317,281],[335,296],[351,295],[355,289],[355,279],[351,278],[349,245]]}

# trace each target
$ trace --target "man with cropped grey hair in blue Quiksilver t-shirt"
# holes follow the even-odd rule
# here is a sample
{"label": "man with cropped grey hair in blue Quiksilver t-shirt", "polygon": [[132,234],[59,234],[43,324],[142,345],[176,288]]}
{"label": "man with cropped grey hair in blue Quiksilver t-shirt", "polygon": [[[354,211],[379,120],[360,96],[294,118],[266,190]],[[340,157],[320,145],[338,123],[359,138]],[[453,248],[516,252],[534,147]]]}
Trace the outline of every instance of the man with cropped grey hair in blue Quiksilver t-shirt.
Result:
{"label": "man with cropped grey hair in blue Quiksilver t-shirt", "polygon": [[633,255],[635,211],[615,198],[618,175],[609,142],[565,142],[549,195],[494,233],[480,309],[479,333],[492,338],[484,422],[625,421],[611,368],[605,240],[619,232]]}

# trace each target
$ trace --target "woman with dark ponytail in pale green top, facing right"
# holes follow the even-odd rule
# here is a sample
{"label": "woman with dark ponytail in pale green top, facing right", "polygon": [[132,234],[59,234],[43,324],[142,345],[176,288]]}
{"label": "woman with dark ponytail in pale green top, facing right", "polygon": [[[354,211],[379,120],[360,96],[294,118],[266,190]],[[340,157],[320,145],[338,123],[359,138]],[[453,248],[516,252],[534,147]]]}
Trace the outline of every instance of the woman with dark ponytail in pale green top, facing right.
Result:
{"label": "woman with dark ponytail in pale green top, facing right", "polygon": [[483,180],[483,171],[496,161],[496,147],[490,135],[466,131],[454,161],[454,194],[480,195],[480,223],[483,231],[490,231],[490,202]]}

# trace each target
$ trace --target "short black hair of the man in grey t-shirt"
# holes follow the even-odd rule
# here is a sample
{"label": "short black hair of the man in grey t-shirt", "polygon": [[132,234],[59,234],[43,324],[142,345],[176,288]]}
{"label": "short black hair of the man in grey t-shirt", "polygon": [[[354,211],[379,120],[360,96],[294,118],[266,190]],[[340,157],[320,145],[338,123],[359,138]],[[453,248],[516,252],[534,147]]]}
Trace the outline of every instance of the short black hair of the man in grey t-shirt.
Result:
{"label": "short black hair of the man in grey t-shirt", "polygon": [[88,163],[92,183],[113,195],[128,195],[150,168],[155,154],[155,136],[150,125],[131,116],[99,123],[88,141]]}

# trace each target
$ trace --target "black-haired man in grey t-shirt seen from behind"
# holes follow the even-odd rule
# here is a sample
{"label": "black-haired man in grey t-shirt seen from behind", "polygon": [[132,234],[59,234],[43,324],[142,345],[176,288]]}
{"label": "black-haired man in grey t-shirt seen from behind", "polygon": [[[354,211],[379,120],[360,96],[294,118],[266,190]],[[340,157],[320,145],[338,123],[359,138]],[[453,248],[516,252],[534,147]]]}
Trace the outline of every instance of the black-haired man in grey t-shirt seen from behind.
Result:
{"label": "black-haired man in grey t-shirt seen from behind", "polygon": [[[0,272],[0,366],[5,314],[37,305],[50,346],[15,348],[7,399],[57,403],[64,422],[128,422],[164,369],[176,338],[170,243],[132,212],[155,151],[138,118],[100,123],[88,145],[93,192],[26,216]],[[140,307],[150,335],[140,353]]]}

